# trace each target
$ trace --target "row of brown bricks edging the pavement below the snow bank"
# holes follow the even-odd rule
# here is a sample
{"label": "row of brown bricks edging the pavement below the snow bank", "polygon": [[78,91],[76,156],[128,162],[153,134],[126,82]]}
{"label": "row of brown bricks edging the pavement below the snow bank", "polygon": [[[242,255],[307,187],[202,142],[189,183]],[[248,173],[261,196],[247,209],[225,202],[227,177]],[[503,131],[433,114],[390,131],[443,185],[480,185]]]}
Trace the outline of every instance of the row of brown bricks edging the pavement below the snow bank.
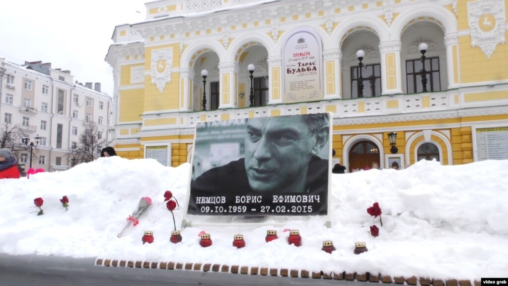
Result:
{"label": "row of brown bricks edging the pavement below the snow bank", "polygon": [[[345,273],[345,272],[333,272],[330,274],[321,272],[309,272],[306,270],[289,270],[289,269],[276,269],[267,267],[248,267],[248,266],[228,266],[219,264],[201,264],[201,263],[174,263],[174,262],[142,262],[142,261],[118,261],[110,259],[97,259],[95,265],[98,266],[111,266],[111,267],[130,267],[130,268],[160,268],[170,270],[195,270],[195,271],[213,271],[213,272],[226,272],[234,274],[251,274],[251,275],[271,275],[271,276],[283,276],[283,277],[301,277],[301,278],[314,278],[314,279],[335,279],[335,280],[348,280],[348,281],[369,281],[369,282],[383,282],[383,283],[395,283],[408,285],[417,285],[420,283],[421,286],[472,286],[470,280],[457,280],[449,279],[446,281],[439,279],[430,278],[417,278],[412,276],[409,278],[404,277],[391,277],[381,274],[359,274],[359,273]],[[249,271],[250,268],[250,271]],[[480,280],[474,280],[474,286],[480,286]]]}

